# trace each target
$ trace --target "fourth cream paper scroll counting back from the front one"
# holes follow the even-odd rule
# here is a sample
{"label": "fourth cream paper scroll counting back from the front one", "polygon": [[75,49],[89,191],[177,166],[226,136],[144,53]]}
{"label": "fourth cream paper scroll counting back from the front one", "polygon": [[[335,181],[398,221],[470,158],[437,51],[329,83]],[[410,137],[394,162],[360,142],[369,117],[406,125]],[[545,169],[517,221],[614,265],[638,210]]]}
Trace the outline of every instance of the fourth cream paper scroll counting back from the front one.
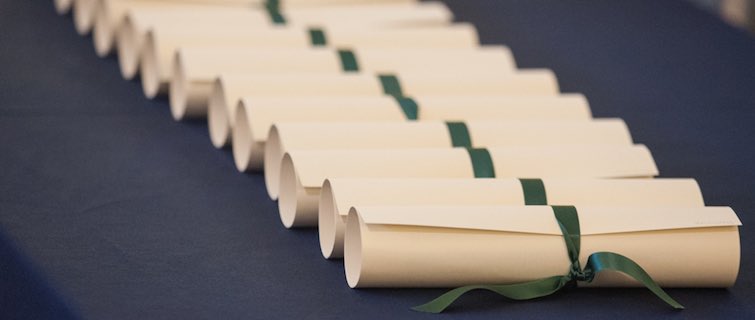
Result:
{"label": "fourth cream paper scroll counting back from the front one", "polygon": [[[621,119],[471,120],[464,123],[471,147],[548,145],[632,145]],[[457,125],[459,123],[457,122]],[[405,122],[278,122],[265,143],[266,185],[280,181],[280,165],[289,150],[402,149],[464,147],[452,141],[443,121]]]}

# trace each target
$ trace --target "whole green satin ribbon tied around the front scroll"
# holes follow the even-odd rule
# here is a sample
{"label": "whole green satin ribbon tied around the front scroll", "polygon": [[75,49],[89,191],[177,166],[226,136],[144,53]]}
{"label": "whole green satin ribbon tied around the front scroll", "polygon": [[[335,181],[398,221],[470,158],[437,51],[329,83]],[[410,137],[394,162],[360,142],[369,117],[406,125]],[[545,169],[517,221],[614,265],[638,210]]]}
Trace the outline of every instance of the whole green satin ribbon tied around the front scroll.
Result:
{"label": "whole green satin ribbon tied around the front scroll", "polygon": [[487,290],[495,292],[513,300],[529,300],[551,295],[566,286],[575,286],[578,281],[590,283],[595,275],[604,270],[622,272],[639,281],[650,289],[658,298],[674,309],[684,309],[666,294],[660,286],[631,259],[613,252],[596,252],[587,259],[587,266],[583,269],[579,263],[580,230],[577,209],[573,206],[553,206],[553,214],[561,228],[566,243],[571,265],[569,271],[562,276],[552,276],[534,281],[510,285],[472,285],[453,289],[426,304],[412,308],[416,311],[440,313],[450,306],[456,299],[472,290]]}

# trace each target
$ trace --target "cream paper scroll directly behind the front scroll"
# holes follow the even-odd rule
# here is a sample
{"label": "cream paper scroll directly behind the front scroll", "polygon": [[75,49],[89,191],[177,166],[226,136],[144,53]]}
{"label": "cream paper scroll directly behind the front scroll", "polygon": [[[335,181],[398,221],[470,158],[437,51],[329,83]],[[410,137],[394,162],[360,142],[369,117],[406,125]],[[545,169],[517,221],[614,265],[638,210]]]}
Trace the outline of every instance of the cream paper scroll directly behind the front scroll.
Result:
{"label": "cream paper scroll directly behind the front scroll", "polygon": [[[703,207],[694,179],[543,179],[551,205]],[[343,257],[351,207],[524,205],[518,179],[325,180],[318,209],[320,249],[325,258]]]}

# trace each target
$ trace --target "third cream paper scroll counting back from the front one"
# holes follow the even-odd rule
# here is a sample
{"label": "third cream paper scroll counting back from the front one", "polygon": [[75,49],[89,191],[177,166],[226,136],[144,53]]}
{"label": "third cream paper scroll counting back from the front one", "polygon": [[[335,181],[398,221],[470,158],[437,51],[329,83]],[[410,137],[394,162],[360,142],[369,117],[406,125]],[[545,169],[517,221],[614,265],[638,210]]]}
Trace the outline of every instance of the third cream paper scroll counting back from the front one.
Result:
{"label": "third cream paper scroll counting back from the front one", "polygon": [[[487,150],[496,178],[638,178],[658,174],[644,145]],[[344,177],[474,178],[475,167],[464,148],[292,150],[281,165],[278,211],[283,225],[317,226],[323,182]]]}

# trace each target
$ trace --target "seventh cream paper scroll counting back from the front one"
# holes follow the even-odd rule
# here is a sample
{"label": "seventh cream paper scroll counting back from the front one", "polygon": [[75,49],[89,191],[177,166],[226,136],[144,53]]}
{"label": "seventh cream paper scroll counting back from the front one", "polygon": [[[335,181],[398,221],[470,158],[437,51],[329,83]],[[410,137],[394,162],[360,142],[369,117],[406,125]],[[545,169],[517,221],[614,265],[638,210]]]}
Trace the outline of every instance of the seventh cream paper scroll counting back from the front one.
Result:
{"label": "seventh cream paper scroll counting back from the front one", "polygon": [[[502,46],[476,49],[353,50],[360,71],[433,72],[463,76],[507,77],[515,69]],[[215,79],[225,72],[342,74],[334,49],[260,49],[246,47],[181,48],[176,53],[170,87],[173,117],[204,117]]]}

